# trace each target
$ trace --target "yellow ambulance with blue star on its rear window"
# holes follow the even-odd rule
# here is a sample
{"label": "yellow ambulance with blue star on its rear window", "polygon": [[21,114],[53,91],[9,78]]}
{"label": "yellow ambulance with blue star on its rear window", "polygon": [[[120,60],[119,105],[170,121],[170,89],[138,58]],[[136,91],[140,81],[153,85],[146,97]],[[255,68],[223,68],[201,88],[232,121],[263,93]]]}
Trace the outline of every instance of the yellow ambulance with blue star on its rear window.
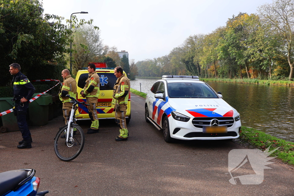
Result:
{"label": "yellow ambulance with blue star on its rear window", "polygon": [[[113,86],[116,83],[116,76],[114,75],[114,68],[107,68],[105,66],[100,66],[101,63],[93,63],[96,65],[96,73],[100,77],[100,95],[98,97],[98,103],[96,105],[97,115],[99,120],[101,119],[114,119],[115,113],[113,111],[114,105],[111,104],[113,95]],[[77,100],[86,102],[86,98],[81,96],[81,90],[85,86],[85,81],[88,78],[87,68],[79,70],[76,75],[77,82]],[[123,72],[125,73],[125,72]],[[89,120],[88,108],[86,106],[78,104],[78,109],[76,110],[77,120]],[[126,123],[131,120],[131,94],[128,95],[128,108],[126,111]]]}

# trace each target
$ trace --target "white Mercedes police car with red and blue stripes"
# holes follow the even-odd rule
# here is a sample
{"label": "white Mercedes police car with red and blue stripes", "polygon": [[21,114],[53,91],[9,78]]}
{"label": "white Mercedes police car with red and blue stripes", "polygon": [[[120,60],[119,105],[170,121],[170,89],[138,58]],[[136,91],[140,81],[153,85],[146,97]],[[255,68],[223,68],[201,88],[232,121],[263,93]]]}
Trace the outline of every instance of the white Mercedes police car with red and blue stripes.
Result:
{"label": "white Mercedes police car with red and blue stripes", "polygon": [[145,120],[166,142],[235,139],[240,114],[198,76],[162,76],[147,93]]}

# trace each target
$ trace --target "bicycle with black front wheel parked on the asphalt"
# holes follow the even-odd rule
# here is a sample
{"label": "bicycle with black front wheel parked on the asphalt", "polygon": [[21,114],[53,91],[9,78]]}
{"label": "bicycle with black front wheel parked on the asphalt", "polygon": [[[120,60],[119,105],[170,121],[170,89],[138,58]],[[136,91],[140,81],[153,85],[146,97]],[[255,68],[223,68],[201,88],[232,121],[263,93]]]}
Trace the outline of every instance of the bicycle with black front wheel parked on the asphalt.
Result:
{"label": "bicycle with black front wheel parked on the asphalt", "polygon": [[85,102],[79,102],[75,98],[66,95],[71,99],[73,107],[71,114],[68,117],[67,124],[60,128],[54,138],[54,151],[56,156],[62,161],[71,161],[78,157],[82,152],[85,143],[85,134],[83,129],[75,124],[75,106],[80,103],[83,105],[89,105]]}

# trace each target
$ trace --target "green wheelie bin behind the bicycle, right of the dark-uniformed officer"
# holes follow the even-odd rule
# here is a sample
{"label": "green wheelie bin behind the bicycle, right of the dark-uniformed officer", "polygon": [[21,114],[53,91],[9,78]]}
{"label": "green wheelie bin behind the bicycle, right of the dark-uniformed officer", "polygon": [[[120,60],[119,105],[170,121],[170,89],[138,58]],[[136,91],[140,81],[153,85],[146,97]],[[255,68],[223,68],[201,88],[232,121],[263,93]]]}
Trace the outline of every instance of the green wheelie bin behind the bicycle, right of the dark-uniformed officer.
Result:
{"label": "green wheelie bin behind the bicycle, right of the dark-uniformed officer", "polygon": [[[38,95],[35,93],[33,97]],[[52,104],[52,96],[44,93],[29,104],[29,125],[46,125],[48,123],[49,104]]]}

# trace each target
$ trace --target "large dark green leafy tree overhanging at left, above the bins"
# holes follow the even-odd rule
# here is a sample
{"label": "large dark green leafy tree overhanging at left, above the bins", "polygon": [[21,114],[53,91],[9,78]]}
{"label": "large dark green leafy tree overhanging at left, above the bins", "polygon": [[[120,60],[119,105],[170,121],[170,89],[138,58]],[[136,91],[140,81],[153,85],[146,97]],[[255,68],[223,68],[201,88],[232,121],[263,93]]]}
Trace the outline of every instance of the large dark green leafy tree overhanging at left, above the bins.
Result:
{"label": "large dark green leafy tree overhanging at left, above the bins", "polygon": [[39,78],[44,73],[46,78],[55,78],[55,71],[64,68],[64,54],[69,53],[68,46],[73,42],[69,26],[76,29],[93,21],[78,22],[73,16],[73,20],[67,20],[69,26],[64,25],[63,17],[43,16],[42,3],[38,0],[0,0],[0,4],[0,86],[9,85],[11,76],[7,66],[16,62],[30,80],[44,79]]}

